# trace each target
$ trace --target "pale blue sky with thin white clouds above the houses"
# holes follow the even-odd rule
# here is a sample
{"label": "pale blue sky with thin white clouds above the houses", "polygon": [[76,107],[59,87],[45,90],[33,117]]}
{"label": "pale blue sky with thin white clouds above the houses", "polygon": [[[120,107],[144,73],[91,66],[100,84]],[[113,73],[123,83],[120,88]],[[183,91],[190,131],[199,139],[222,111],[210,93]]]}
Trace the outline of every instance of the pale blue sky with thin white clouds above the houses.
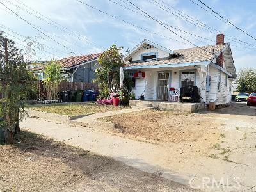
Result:
{"label": "pale blue sky with thin white clouds above the houses", "polygon": [[[156,20],[168,24],[168,28],[179,36],[145,17],[129,1]],[[144,38],[168,49],[184,49],[215,44],[216,33],[224,33],[225,42],[230,42],[237,70],[256,67],[255,0],[243,3],[239,0],[202,0],[254,38],[212,15],[198,0],[129,1],[1,0],[0,31],[17,42],[21,49],[26,46],[28,36],[40,42],[42,45],[35,46],[36,55],[31,60],[92,54],[102,52],[112,44],[124,47],[125,54]]]}

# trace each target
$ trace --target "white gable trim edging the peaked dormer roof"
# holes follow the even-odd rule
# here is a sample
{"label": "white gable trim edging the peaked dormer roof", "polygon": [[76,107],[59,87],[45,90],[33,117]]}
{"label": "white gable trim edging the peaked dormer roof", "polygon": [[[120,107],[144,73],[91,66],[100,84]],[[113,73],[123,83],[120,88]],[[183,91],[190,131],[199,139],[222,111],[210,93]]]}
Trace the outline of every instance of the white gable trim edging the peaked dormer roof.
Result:
{"label": "white gable trim edging the peaked dormer roof", "polygon": [[174,51],[172,51],[171,49],[167,49],[166,47],[163,47],[162,45],[156,44],[154,42],[150,42],[150,40],[144,39],[142,42],[140,42],[140,44],[136,45],[131,51],[129,51],[127,54],[125,54],[124,56],[124,60],[128,61],[132,54],[134,54],[134,52],[137,52],[138,50],[140,50],[141,47],[143,47],[144,45],[152,45],[153,47],[156,47],[158,49],[161,49],[162,51],[168,52],[169,54],[175,54]]}

